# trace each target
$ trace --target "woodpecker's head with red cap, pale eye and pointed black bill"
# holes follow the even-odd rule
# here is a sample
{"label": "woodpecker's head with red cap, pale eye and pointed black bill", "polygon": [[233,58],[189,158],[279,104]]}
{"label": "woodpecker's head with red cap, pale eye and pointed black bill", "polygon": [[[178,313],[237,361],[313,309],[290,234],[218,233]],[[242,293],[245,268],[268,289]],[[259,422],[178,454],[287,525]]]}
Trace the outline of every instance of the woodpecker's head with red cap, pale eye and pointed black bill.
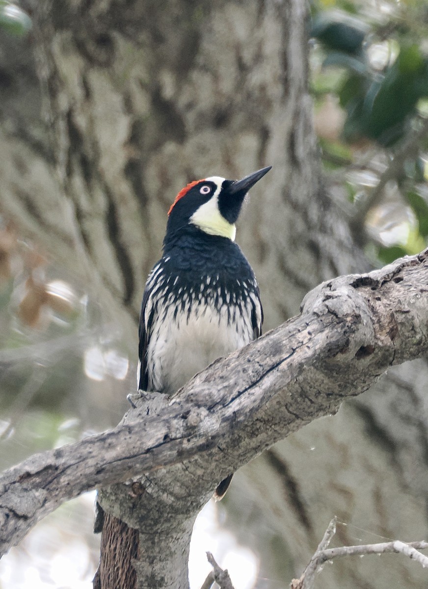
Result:
{"label": "woodpecker's head with red cap, pale eye and pointed black bill", "polygon": [[185,230],[196,227],[210,235],[235,239],[235,221],[245,195],[271,166],[248,174],[242,180],[226,180],[211,176],[187,184],[177,194],[168,211],[165,241]]}

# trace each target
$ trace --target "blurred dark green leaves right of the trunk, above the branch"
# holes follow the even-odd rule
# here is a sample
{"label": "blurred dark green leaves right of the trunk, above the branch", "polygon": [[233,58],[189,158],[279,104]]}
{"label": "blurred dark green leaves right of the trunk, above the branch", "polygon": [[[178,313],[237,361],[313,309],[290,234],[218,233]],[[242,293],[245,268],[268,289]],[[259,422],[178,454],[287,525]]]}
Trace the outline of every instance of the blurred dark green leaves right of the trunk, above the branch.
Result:
{"label": "blurred dark green leaves right of the trunk, above the branch", "polygon": [[313,0],[311,17],[326,171],[373,259],[416,253],[428,236],[428,3]]}

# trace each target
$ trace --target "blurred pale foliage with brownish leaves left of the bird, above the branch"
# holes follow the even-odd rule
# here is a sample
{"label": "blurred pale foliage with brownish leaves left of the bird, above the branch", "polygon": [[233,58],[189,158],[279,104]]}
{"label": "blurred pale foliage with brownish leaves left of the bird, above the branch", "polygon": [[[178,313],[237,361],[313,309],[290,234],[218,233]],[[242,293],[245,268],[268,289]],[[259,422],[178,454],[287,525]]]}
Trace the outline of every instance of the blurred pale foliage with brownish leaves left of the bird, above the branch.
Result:
{"label": "blurred pale foliage with brownish leaves left of the bird, above the branch", "polygon": [[81,282],[0,217],[0,469],[126,408],[120,331]]}

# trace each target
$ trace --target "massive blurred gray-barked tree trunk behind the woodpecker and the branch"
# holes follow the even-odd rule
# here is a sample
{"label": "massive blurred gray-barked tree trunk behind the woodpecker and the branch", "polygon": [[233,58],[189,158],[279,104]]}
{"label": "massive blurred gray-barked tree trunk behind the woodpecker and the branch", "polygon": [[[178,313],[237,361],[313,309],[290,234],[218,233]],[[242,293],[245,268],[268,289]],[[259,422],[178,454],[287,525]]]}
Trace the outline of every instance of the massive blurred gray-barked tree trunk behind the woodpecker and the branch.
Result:
{"label": "massive blurred gray-barked tree trunk behind the woodpecker and the branch", "polygon": [[[41,0],[34,11],[29,46],[9,39],[10,51],[0,55],[8,74],[0,88],[8,121],[0,130],[1,209],[78,267],[124,331],[135,330],[135,358],[142,289],[160,254],[166,211],[195,178],[274,166],[265,192],[254,189],[237,236],[261,285],[267,328],[296,313],[321,280],[367,269],[321,181],[303,0]],[[427,374],[422,361],[395,370],[377,385],[382,395],[314,423],[243,469],[246,490],[234,482],[229,498],[238,533],[244,538],[242,522],[257,505],[267,537],[274,530],[288,542],[290,578],[334,514],[386,536],[405,537],[410,528],[412,537],[426,535]],[[167,489],[164,500],[177,509],[174,492]],[[107,495],[101,501],[118,515]],[[180,534],[190,530],[188,521]],[[350,541],[346,528],[341,538]],[[139,562],[150,562],[150,550],[139,545]],[[267,547],[260,542],[261,554],[285,574],[284,554],[275,561]],[[187,553],[181,544],[177,550],[184,571]],[[394,560],[389,574],[413,574],[405,566]],[[370,578],[377,588],[391,584],[354,561],[334,571],[336,578],[324,575],[321,583],[339,587],[352,574],[356,586],[370,587]],[[140,565],[137,572],[148,584]]]}

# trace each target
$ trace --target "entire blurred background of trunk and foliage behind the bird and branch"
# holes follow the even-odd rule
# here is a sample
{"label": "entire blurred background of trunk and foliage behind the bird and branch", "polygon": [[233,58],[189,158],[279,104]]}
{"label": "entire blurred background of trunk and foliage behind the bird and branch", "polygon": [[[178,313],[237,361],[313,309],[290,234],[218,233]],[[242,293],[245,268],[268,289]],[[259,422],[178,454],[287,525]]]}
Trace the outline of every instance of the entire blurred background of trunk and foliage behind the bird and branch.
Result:
{"label": "entire blurred background of trunk and foliage behind the bird and branch", "polygon": [[[120,421],[145,277],[187,181],[273,164],[237,234],[266,329],[321,280],[427,246],[426,0],[92,4],[0,0],[2,469]],[[241,469],[195,524],[191,588],[207,550],[236,589],[288,587],[334,515],[333,545],[426,539],[427,376],[422,360],[391,370]],[[40,522],[0,587],[92,587],[94,499]],[[426,574],[364,557],[326,564],[317,587]]]}

